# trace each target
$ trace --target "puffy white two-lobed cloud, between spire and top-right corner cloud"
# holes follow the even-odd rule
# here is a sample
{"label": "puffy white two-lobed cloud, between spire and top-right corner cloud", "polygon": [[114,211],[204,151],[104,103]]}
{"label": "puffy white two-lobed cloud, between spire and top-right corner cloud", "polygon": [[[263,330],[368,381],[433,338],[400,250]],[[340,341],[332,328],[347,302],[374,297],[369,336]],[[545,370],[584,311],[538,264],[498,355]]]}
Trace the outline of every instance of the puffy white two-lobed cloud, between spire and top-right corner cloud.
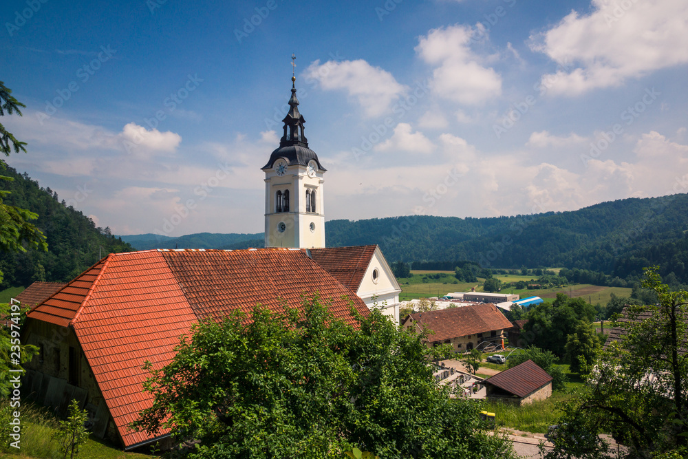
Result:
{"label": "puffy white two-lobed cloud, between spire and top-right corner cloud", "polygon": [[[480,25],[478,26],[480,28]],[[468,25],[451,25],[421,36],[416,52],[431,65],[433,92],[455,102],[475,105],[502,94],[502,78],[471,50],[471,37],[484,30]]]}

